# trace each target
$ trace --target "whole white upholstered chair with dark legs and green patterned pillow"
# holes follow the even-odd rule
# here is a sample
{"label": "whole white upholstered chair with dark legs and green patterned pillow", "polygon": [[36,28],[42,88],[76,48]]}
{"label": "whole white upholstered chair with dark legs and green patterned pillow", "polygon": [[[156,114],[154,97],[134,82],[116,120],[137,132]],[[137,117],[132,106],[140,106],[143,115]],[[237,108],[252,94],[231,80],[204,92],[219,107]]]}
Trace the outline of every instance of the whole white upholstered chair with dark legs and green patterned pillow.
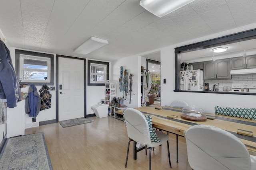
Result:
{"label": "whole white upholstered chair with dark legs and green patterned pillow", "polygon": [[[124,122],[126,123],[127,133],[129,137],[125,168],[127,166],[129,147],[131,141],[136,141],[137,143],[144,145],[146,149],[149,149],[149,170],[151,169],[151,150],[154,147],[157,147],[159,145],[162,145],[162,143],[167,142],[169,165],[170,168],[172,168],[168,143],[169,137],[166,133],[163,133],[161,131],[155,131],[152,128],[152,124],[150,128],[146,117],[140,111],[133,108],[128,108],[126,109],[126,111],[124,111]],[[153,137],[152,133],[156,136]],[[155,142],[157,137],[160,139],[159,142]]]}

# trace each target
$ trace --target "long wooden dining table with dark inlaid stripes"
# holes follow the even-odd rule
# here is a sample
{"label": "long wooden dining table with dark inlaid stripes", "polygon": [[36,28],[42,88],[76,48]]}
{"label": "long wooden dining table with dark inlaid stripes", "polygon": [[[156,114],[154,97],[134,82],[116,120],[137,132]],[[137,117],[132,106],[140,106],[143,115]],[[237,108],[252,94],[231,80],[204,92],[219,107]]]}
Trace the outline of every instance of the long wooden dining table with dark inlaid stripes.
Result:
{"label": "long wooden dining table with dark inlaid stripes", "polygon": [[[224,115],[216,115],[212,113],[206,113],[208,119],[204,121],[194,121],[184,119],[181,117],[182,109],[174,107],[160,107],[162,109],[156,109],[156,106],[138,107],[135,108],[141,111],[145,115],[151,115],[153,127],[174,133],[176,135],[177,144],[177,162],[178,162],[178,136],[184,137],[184,134],[189,127],[193,125],[212,125],[220,129],[224,129],[236,137],[238,137],[246,146],[248,150],[256,151],[256,121],[251,119],[244,119],[238,117],[230,117]],[[159,107],[158,107],[159,108]],[[122,110],[117,111],[118,114],[122,114]],[[169,118],[175,117],[175,118]],[[250,136],[238,134],[238,129],[244,132],[250,132]],[[136,160],[136,147],[134,147],[134,159]]]}

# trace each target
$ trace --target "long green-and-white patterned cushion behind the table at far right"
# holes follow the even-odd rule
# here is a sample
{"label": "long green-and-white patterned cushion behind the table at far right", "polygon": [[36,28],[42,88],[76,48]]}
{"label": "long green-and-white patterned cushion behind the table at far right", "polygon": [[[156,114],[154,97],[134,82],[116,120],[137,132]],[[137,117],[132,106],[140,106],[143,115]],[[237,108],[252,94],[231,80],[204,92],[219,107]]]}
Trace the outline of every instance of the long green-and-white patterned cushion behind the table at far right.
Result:
{"label": "long green-and-white patterned cushion behind the table at far right", "polygon": [[215,114],[256,120],[256,109],[215,106]]}

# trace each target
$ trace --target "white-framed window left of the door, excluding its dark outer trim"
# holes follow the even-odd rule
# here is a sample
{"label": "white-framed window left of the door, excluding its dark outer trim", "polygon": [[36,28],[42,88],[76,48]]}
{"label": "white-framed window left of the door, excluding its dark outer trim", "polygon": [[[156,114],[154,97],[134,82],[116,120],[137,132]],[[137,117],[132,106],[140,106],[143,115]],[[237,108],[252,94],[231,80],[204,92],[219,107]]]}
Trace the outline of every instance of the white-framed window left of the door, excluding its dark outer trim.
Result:
{"label": "white-framed window left of the door, excluding its dark outer trim", "polygon": [[20,78],[22,82],[50,82],[50,58],[20,55]]}

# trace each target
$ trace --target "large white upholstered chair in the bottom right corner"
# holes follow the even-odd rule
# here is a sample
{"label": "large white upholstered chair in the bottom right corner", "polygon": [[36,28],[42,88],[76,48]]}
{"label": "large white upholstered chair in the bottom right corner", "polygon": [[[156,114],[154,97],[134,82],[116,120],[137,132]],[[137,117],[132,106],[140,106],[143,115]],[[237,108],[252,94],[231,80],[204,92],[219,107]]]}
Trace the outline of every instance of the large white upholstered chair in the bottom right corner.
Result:
{"label": "large white upholstered chair in the bottom right corner", "polygon": [[256,156],[238,137],[209,125],[194,125],[185,134],[193,170],[256,170]]}

